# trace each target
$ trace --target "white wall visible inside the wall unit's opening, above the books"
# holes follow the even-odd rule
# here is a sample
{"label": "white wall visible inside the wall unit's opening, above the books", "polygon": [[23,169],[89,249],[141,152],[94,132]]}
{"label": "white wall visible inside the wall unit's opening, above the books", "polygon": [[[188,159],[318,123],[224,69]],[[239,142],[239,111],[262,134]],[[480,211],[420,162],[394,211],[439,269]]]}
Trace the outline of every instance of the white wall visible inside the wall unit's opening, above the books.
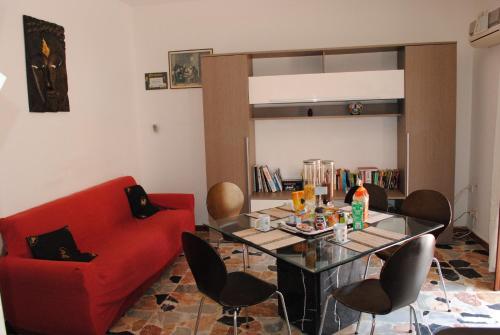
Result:
{"label": "white wall visible inside the wall unit's opening, above the books", "polygon": [[302,161],[331,159],[337,168],[397,168],[397,117],[355,120],[257,120],[257,164],[280,168],[284,178],[301,178]]}

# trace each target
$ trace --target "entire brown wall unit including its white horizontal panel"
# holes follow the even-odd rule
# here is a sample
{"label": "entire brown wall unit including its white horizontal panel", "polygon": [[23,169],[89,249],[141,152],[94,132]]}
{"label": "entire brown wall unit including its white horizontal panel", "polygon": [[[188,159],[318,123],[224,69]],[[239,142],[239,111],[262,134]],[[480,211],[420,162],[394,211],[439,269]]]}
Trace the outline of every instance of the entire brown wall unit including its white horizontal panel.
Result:
{"label": "entire brown wall unit including its white horizontal panel", "polygon": [[[252,77],[252,59],[324,58],[325,55],[345,58],[370,52],[397,53],[397,65],[388,71]],[[365,116],[398,118],[397,161],[403,178],[400,190],[390,192],[389,198],[401,199],[417,189],[434,189],[445,194],[453,206],[456,43],[215,54],[202,58],[202,73],[207,187],[220,181],[236,183],[245,194],[244,210],[250,208],[252,199],[262,202],[290,198],[289,193],[251,192],[251,171],[255,164],[254,119],[293,117],[300,122],[300,118],[308,117],[309,109],[317,111],[312,117],[355,118],[345,112],[345,105],[358,99],[366,99]],[[365,86],[356,85],[363,77]],[[343,78],[345,85],[338,78]],[[322,81],[344,91],[322,91],[318,85]],[[320,92],[315,100],[310,98],[315,94],[310,90],[313,85],[318,85],[316,92]],[[358,94],[356,87],[362,94]],[[328,101],[332,104],[325,105]],[[269,108],[282,103],[283,107]],[[451,240],[451,229],[441,242]]]}

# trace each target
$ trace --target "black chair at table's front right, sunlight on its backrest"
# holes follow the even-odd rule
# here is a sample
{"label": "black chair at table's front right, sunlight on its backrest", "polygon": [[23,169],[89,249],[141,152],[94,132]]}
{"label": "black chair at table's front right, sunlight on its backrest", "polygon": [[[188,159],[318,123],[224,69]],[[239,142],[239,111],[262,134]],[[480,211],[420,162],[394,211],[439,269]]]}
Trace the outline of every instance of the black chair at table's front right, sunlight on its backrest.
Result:
{"label": "black chair at table's front right, sunlight on its backrest", "polygon": [[[410,329],[412,314],[415,329],[420,335],[417,313],[411,305],[418,297],[420,288],[427,278],[434,257],[435,238],[431,234],[417,237],[399,246],[382,267],[380,279],[364,279],[333,290],[328,296],[321,317],[319,334],[323,331],[326,311],[330,299],[334,298],[343,305],[372,315],[371,333],[375,331],[375,316],[389,314],[405,306],[410,307]],[[361,314],[356,332],[358,333]]]}

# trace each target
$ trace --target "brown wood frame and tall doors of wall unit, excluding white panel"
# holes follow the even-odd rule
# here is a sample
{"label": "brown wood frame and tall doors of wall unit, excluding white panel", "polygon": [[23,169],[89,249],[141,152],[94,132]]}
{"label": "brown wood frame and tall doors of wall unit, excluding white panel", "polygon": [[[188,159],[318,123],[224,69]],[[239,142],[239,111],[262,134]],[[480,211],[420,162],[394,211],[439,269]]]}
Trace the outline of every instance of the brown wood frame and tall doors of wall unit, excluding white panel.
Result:
{"label": "brown wood frame and tall doors of wall unit, excluding white panel", "polygon": [[[442,192],[453,208],[456,42],[249,52],[203,57],[207,187],[220,181],[237,184],[245,195],[244,211],[249,210],[252,198],[269,199],[274,203],[290,199],[287,192],[252,194],[255,134],[253,106],[249,104],[248,98],[248,77],[252,76],[253,58],[324,57],[386,51],[396,52],[397,67],[405,70],[405,98],[388,105],[398,114],[397,162],[402,174],[399,192],[395,195],[392,192],[392,199],[404,198],[418,189],[433,189]],[[276,119],[279,120],[279,117]],[[449,242],[451,237],[452,225],[440,242]]]}

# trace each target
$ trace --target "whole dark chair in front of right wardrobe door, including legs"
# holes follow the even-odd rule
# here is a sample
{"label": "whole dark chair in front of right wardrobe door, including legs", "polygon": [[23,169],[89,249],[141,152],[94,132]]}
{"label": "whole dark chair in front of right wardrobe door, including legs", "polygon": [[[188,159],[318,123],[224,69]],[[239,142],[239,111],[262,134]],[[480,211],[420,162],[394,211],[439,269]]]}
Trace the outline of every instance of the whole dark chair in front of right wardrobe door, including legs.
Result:
{"label": "whole dark chair in front of right wardrobe door, including legs", "polygon": [[[452,219],[450,202],[444,195],[433,190],[418,190],[412,192],[403,202],[403,205],[401,206],[401,214],[443,224],[443,228],[435,230],[431,233],[434,235],[436,240],[448,227]],[[425,224],[425,222],[422,223]],[[397,250],[397,248],[397,246],[390,247],[377,252],[376,255],[381,260],[386,261]],[[368,271],[371,256],[372,255],[368,257],[368,262],[366,263],[365,277]],[[448,312],[451,312],[450,300],[448,300],[448,293],[446,291],[441,265],[436,257],[434,257],[432,261],[436,264],[439,280],[441,282],[446,304],[448,306]]]}

